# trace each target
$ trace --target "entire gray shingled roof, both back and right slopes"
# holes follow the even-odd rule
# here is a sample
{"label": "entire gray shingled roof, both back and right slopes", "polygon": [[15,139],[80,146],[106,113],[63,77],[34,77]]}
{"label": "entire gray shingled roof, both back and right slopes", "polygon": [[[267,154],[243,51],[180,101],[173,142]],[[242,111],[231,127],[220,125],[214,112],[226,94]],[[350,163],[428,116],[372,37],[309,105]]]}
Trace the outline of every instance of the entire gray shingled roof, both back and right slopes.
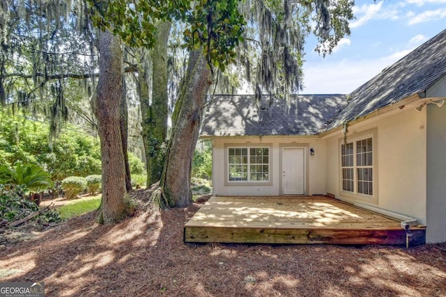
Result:
{"label": "entire gray shingled roof, both back and right slopes", "polygon": [[201,136],[316,135],[422,94],[445,75],[446,30],[350,95],[295,95],[287,111],[284,100],[267,97],[258,107],[254,95],[217,95]]}

